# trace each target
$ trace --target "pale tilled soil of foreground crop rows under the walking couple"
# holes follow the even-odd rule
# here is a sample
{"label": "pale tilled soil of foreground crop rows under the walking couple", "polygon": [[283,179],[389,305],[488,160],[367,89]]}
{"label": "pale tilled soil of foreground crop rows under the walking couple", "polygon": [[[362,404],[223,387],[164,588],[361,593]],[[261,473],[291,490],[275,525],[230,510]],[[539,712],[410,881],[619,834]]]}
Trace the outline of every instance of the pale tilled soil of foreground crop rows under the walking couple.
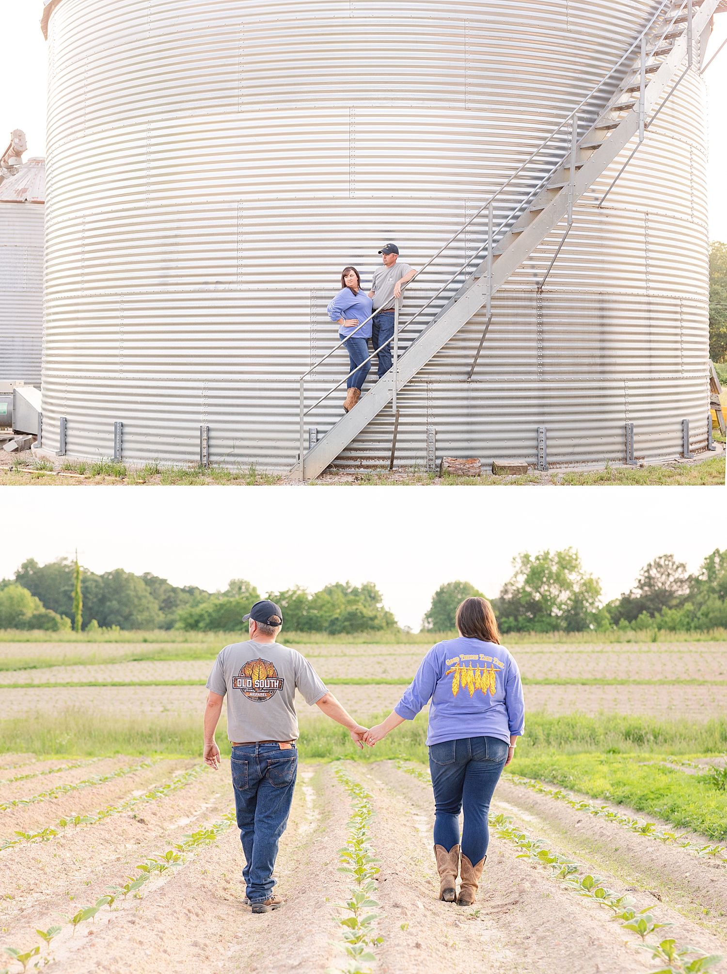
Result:
{"label": "pale tilled soil of foreground crop rows under the walking couple", "polygon": [[[337,849],[345,842],[351,806],[336,778],[337,767],[369,791],[376,812],[371,834],[381,859],[376,898],[384,915],[377,926],[384,938],[377,949],[378,974],[440,974],[443,969],[453,974],[644,974],[655,966],[633,938],[627,942],[609,922],[605,910],[569,893],[543,868],[516,858],[517,848],[505,840],[491,840],[479,917],[440,902],[430,787],[388,762],[365,767],[345,762],[299,769],[277,860],[276,891],[285,899],[281,910],[253,916],[244,906],[243,858],[233,825],[180,868],[143,886],[140,899],[129,896],[115,904],[118,909],[104,908],[94,922],[80,924],[75,936],[64,924],[51,947],[52,970],[321,974],[342,968],[344,955],[332,945],[341,939],[340,928],[331,915],[348,885],[337,871]],[[498,789],[495,797],[500,795]],[[509,794],[508,799],[508,806],[515,801]],[[57,914],[93,903],[107,884],[133,875],[144,857],[159,855],[183,833],[219,820],[231,803],[230,769],[223,762],[220,771],[205,769],[186,788],[148,805],[154,819],[146,811],[137,819],[117,816],[48,843],[6,850],[0,854],[0,870],[3,888],[12,889],[13,898],[0,901],[2,944],[33,947],[39,941],[36,928],[45,929]],[[519,812],[508,811],[516,818]],[[524,828],[531,827],[531,813],[521,814]],[[568,839],[563,835],[558,851],[571,851]],[[580,861],[588,862],[582,855]],[[625,881],[608,879],[617,892],[624,891]],[[634,896],[639,907],[654,903],[640,887]],[[660,918],[674,922],[669,932],[678,941],[722,953],[723,938],[704,923],[682,916],[671,903],[656,906]]]}

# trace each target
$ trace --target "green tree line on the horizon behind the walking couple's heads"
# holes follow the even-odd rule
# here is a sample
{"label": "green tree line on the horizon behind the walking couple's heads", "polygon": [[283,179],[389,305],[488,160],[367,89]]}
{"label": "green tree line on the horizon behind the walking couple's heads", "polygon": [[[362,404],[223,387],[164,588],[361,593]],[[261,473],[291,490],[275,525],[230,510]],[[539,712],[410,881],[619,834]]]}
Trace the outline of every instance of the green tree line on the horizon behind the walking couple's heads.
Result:
{"label": "green tree line on the horizon behind the walking couple's heads", "polygon": [[[715,548],[691,575],[672,554],[660,555],[641,569],[628,592],[605,604],[600,580],[572,548],[522,552],[512,567],[510,579],[491,598],[503,633],[727,628],[727,549]],[[469,581],[443,584],[432,596],[422,628],[453,631],[459,602],[484,594]],[[288,632],[400,631],[373,581],[334,582],[317,592],[296,586],[266,597],[281,606]],[[231,632],[244,630],[242,617],[260,598],[244,579],[231,580],[225,591],[208,592],[172,585],[149,572],[134,575],[117,568],[99,575],[67,558],[46,565],[30,558],[13,579],[0,581],[0,628]]]}

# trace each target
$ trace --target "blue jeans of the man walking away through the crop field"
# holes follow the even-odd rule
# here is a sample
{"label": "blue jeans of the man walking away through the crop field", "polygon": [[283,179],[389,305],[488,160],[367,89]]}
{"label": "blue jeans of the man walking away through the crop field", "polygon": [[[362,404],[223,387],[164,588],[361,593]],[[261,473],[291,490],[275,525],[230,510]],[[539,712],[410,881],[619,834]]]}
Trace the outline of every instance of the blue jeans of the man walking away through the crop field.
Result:
{"label": "blue jeans of the man walking away through the crop field", "polygon": [[273,893],[277,843],[288,824],[298,751],[281,751],[279,744],[244,744],[233,748],[232,767],[247,899],[263,903]]}

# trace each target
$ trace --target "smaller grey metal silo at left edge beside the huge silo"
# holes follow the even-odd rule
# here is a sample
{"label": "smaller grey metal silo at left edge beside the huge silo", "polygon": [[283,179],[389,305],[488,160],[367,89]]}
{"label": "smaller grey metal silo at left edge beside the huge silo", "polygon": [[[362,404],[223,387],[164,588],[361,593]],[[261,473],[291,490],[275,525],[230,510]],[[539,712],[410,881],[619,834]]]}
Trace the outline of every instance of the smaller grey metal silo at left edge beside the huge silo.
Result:
{"label": "smaller grey metal silo at left edge beside the huge silo", "polygon": [[46,161],[0,184],[0,380],[40,386]]}

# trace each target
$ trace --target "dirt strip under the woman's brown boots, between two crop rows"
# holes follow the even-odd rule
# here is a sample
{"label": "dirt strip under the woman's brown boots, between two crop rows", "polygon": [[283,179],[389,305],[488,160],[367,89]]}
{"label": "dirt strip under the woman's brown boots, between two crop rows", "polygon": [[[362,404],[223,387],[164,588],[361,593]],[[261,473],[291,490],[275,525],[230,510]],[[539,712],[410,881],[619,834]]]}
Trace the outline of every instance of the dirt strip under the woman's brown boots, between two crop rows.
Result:
{"label": "dirt strip under the woman's brown boots, between two crop rows", "polygon": [[[403,844],[411,850],[413,830],[404,823],[407,819],[419,820],[417,900],[422,906],[412,904],[408,892],[416,881],[414,870],[402,871],[396,880],[392,877],[392,886],[398,887],[396,898],[399,903],[409,904],[405,908],[412,921],[405,943],[395,929],[389,930],[382,952],[388,970],[438,974],[446,964],[453,972],[468,974],[644,971],[641,952],[625,943],[623,934],[609,922],[604,911],[579,900],[527,860],[517,859],[518,850],[512,844],[494,837],[478,897],[480,916],[472,919],[473,911],[435,900],[438,880],[431,849],[431,786],[388,762],[382,762],[373,773],[382,781],[382,804],[390,808],[388,816],[382,815],[384,820],[388,818],[379,846],[384,861],[391,855],[389,843]],[[390,912],[397,913],[393,904]],[[420,944],[417,948],[415,943],[415,954],[411,951],[412,933]],[[400,951],[407,947],[404,966]]]}

